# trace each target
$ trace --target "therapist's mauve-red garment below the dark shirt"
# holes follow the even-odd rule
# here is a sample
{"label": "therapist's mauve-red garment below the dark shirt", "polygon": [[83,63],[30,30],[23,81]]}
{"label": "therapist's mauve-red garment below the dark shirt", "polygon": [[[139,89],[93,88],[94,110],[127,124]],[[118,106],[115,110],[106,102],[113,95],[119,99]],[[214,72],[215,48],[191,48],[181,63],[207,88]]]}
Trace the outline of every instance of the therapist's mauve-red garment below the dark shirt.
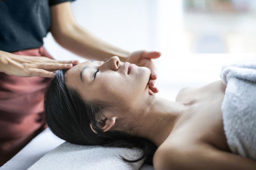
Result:
{"label": "therapist's mauve-red garment below the dark shirt", "polygon": [[[13,54],[52,58],[43,47]],[[51,81],[52,78],[17,77],[0,72],[0,166],[47,127],[44,93]]]}

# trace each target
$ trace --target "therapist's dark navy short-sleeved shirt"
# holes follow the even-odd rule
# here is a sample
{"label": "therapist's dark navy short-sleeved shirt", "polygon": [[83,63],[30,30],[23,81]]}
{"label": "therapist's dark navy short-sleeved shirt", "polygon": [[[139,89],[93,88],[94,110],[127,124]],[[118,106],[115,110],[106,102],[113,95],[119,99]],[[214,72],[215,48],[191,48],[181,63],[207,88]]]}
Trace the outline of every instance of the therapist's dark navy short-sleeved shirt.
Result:
{"label": "therapist's dark navy short-sleeved shirt", "polygon": [[50,6],[74,0],[0,0],[0,50],[39,48],[51,26]]}

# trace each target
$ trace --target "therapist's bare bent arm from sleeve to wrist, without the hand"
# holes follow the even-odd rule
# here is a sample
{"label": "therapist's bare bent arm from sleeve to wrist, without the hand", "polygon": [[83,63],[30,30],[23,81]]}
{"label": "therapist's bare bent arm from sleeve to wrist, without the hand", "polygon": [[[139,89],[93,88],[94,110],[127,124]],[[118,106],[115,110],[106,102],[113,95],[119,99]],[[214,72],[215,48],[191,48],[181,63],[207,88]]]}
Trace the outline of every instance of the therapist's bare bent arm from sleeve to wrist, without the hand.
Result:
{"label": "therapist's bare bent arm from sleeve to wrist, without the hand", "polygon": [[62,47],[82,57],[104,60],[114,55],[127,61],[131,52],[118,48],[95,36],[76,23],[70,2],[51,7],[51,33]]}

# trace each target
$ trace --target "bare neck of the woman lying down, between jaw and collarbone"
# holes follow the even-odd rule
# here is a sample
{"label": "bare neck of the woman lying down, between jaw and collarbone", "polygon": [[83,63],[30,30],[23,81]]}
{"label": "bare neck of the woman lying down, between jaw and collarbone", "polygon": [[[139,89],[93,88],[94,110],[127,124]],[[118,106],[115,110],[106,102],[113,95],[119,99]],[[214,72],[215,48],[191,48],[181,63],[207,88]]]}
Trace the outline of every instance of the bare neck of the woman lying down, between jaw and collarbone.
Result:
{"label": "bare neck of the woman lying down, between jaw and collarbone", "polygon": [[130,135],[144,137],[159,147],[170,135],[186,106],[157,96],[151,96],[146,103],[133,111]]}

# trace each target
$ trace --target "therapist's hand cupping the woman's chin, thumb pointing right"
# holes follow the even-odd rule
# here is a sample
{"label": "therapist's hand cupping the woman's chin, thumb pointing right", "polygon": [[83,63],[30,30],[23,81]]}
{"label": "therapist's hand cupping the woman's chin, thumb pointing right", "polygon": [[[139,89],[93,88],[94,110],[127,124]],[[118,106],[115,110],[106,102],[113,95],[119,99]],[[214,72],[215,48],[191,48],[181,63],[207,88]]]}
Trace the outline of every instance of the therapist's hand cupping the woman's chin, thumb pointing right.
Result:
{"label": "therapist's hand cupping the woman's chin, thumb pointing right", "polygon": [[136,64],[140,67],[148,67],[151,70],[150,80],[148,82],[149,92],[151,95],[158,92],[158,89],[155,87],[155,80],[157,79],[156,66],[152,59],[159,58],[160,56],[161,53],[156,51],[135,51],[127,58],[127,62]]}

